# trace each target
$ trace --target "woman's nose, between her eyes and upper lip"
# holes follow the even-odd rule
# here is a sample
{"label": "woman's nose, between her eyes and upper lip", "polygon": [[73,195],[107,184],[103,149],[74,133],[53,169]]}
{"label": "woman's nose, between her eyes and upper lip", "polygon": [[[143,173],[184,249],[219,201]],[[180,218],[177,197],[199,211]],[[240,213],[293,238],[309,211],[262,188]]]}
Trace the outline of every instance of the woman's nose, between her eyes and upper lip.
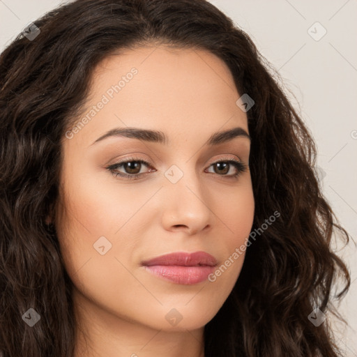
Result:
{"label": "woman's nose, between her eyes and upper lip", "polygon": [[208,191],[195,173],[184,174],[176,183],[167,181],[163,188],[162,226],[167,231],[185,231],[189,235],[212,227],[213,210]]}

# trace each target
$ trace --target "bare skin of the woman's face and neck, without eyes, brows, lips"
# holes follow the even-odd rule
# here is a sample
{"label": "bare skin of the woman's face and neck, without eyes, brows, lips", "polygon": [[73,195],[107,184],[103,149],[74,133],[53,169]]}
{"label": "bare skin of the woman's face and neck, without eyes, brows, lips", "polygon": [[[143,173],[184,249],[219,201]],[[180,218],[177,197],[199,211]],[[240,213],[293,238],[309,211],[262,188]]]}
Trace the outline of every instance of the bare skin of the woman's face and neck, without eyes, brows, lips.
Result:
{"label": "bare skin of the woman's face and neck, without eyes, brows, lips", "polygon": [[[193,285],[158,278],[141,262],[202,250],[220,266],[245,243],[255,207],[250,171],[234,178],[233,165],[222,173],[212,164],[238,160],[248,165],[250,139],[204,143],[218,131],[241,127],[248,132],[247,116],[236,105],[241,95],[224,62],[204,50],[165,45],[104,59],[87,104],[96,105],[133,67],[137,75],[72,138],[63,138],[55,224],[75,285],[75,357],[203,357],[204,325],[233,289],[244,254],[215,282]],[[108,137],[93,144],[126,126],[160,130],[168,142]],[[132,155],[151,164],[137,169],[149,172],[140,179],[115,177],[106,169]],[[165,176],[172,165],[183,173],[177,183]],[[125,167],[118,171],[128,174]],[[93,248],[101,236],[112,244],[104,255]],[[182,317],[176,326],[165,319],[173,308]]]}

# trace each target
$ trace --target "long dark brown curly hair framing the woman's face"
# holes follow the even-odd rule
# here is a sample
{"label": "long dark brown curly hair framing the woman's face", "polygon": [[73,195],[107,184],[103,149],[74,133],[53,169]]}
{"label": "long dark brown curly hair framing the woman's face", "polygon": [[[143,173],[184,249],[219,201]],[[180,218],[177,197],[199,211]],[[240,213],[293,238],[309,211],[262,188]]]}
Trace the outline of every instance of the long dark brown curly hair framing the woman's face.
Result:
{"label": "long dark brown curly hair framing the woman's face", "polygon": [[[335,228],[322,194],[316,146],[280,77],[250,37],[205,0],[77,0],[34,22],[0,56],[0,351],[3,357],[73,357],[73,283],[46,218],[59,197],[61,143],[81,112],[93,70],[112,53],[148,43],[203,49],[222,59],[241,95],[252,139],[253,229],[281,215],[246,251],[241,274],[204,327],[206,357],[342,356],[328,319],[348,291],[331,248]],[[338,294],[335,284],[343,283]],[[32,307],[40,324],[22,315]]]}

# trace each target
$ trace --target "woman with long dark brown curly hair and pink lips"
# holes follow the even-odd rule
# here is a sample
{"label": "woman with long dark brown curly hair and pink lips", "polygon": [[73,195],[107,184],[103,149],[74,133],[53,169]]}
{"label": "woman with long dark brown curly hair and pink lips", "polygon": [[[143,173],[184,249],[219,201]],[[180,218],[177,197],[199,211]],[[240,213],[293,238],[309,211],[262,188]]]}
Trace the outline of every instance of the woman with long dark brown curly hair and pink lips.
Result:
{"label": "woman with long dark brown curly hair and pink lips", "polygon": [[3,51],[4,357],[342,356],[349,236],[264,61],[203,0],[74,1]]}

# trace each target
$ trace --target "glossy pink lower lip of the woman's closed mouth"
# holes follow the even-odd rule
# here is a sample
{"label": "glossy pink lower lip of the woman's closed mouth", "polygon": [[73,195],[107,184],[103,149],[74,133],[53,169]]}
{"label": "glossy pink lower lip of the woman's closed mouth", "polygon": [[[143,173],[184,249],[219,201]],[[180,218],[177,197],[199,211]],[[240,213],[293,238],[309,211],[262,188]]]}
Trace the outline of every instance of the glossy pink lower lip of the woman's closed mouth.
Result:
{"label": "glossy pink lower lip of the woman's closed mouth", "polygon": [[145,266],[154,275],[170,280],[175,284],[192,285],[203,282],[215,270],[214,266]]}

